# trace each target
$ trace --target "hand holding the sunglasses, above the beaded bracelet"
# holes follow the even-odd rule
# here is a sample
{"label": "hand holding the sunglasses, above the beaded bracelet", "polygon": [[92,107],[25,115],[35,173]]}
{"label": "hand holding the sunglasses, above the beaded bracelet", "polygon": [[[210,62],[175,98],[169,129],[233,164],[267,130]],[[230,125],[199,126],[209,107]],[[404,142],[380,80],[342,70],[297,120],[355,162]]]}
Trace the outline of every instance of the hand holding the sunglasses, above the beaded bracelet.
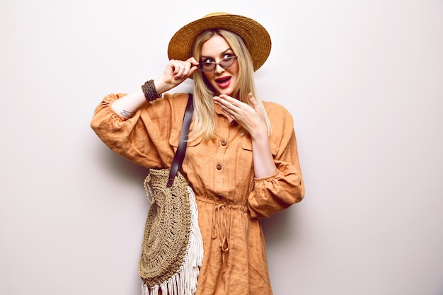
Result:
{"label": "hand holding the sunglasses, above the beaded bracelet", "polygon": [[194,57],[183,61],[171,59],[165,71],[156,79],[157,93],[166,92],[188,79],[198,69],[198,62]]}

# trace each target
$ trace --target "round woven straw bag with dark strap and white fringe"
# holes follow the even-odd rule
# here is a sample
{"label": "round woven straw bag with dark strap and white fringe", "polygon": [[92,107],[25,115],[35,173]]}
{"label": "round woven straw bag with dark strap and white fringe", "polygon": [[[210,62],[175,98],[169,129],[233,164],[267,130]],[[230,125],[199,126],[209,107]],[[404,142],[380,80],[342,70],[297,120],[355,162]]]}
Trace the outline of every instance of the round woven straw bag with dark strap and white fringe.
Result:
{"label": "round woven straw bag with dark strap and white fringe", "polygon": [[144,180],[151,203],[139,259],[143,295],[190,295],[197,289],[203,260],[197,204],[180,173],[192,117],[192,95],[186,105],[180,144],[170,169],[149,169]]}

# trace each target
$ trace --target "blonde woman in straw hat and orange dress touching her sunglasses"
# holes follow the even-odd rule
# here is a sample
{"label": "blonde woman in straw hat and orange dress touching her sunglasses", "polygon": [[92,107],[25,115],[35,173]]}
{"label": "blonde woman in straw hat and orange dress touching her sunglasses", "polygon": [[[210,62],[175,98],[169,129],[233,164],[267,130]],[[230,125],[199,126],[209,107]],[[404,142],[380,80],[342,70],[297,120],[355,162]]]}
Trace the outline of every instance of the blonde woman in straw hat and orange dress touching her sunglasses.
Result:
{"label": "blonde woman in straw hat and orange dress touching her sunglasses", "polygon": [[166,92],[194,80],[183,175],[195,191],[205,253],[198,295],[272,294],[259,219],[304,197],[292,116],[255,92],[253,74],[270,47],[251,18],[209,14],[173,36],[158,79],[106,96],[93,115],[91,127],[117,154],[168,168],[188,94]]}

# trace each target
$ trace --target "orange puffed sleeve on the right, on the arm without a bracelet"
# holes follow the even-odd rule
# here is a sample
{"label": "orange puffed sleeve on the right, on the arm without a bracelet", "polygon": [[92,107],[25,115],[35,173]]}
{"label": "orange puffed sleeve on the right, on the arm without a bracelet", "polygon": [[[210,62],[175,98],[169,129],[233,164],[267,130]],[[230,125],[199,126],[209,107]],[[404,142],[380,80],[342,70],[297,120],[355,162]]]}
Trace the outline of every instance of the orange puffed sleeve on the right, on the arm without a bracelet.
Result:
{"label": "orange puffed sleeve on the right, on the arm without a bracelet", "polygon": [[275,103],[265,105],[272,124],[270,146],[277,171],[267,178],[255,178],[248,197],[252,218],[265,218],[304,198],[297,139],[292,115]]}

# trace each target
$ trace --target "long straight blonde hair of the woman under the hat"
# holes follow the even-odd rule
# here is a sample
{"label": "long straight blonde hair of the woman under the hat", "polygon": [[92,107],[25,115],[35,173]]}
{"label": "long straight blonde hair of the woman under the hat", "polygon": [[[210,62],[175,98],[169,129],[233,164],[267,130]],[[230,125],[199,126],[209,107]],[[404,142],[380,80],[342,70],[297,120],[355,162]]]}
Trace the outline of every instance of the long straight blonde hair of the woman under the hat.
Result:
{"label": "long straight blonde hair of the woman under the hat", "polygon": [[[267,131],[268,134],[270,134],[271,125],[269,117],[267,117],[262,100],[258,98],[255,91],[254,68],[251,55],[241,37],[228,30],[207,30],[200,34],[195,40],[192,48],[192,56],[195,57],[197,61],[200,61],[203,43],[214,37],[214,35],[224,37],[224,40],[228,42],[229,46],[231,46],[231,50],[233,50],[234,54],[238,57],[238,83],[234,89],[234,93],[238,96],[238,100],[247,103],[248,105],[251,105],[251,102],[248,100],[248,93],[251,92],[253,94],[255,100],[257,100],[259,108],[265,115]],[[215,137],[214,101],[212,100],[215,91],[201,71],[195,71],[193,79],[194,122],[189,137],[190,140],[196,139],[197,137],[211,139]]]}

